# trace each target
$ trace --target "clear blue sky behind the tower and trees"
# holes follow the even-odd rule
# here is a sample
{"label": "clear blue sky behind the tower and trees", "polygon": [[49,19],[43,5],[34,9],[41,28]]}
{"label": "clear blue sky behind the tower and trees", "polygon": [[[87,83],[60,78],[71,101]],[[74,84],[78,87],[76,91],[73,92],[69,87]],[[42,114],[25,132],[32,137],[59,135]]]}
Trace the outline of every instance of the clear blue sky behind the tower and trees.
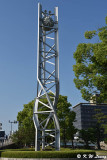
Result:
{"label": "clear blue sky behind the tower and trees", "polygon": [[[9,134],[23,105],[36,97],[38,2],[59,10],[60,94],[84,103],[73,79],[73,53],[87,30],[105,25],[107,0],[0,0],[0,123]],[[17,124],[13,124],[13,130]]]}

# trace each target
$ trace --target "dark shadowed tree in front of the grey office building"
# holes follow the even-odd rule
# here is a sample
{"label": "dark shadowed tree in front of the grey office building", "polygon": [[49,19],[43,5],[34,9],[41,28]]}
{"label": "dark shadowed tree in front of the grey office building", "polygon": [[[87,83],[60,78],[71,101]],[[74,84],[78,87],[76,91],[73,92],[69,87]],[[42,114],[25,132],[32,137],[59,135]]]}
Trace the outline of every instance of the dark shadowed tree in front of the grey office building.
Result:
{"label": "dark shadowed tree in front of the grey office building", "polygon": [[85,147],[89,148],[89,144],[96,143],[97,148],[101,149],[100,142],[106,141],[107,136],[107,115],[104,115],[101,109],[95,109],[93,115],[94,127],[88,129],[82,129],[79,131],[79,137],[85,142]]}

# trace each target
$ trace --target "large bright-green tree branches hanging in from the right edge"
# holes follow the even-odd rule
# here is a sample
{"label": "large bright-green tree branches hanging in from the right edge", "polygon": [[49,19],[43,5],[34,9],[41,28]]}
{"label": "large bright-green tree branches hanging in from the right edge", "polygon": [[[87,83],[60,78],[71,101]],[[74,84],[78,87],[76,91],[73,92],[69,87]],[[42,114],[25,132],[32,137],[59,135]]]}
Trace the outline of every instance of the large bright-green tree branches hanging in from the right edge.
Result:
{"label": "large bright-green tree branches hanging in from the right edge", "polygon": [[89,101],[93,95],[99,94],[93,99],[101,103],[107,99],[107,25],[97,31],[85,32],[89,41],[95,36],[99,39],[97,43],[80,43],[74,52],[74,83],[85,100]]}

